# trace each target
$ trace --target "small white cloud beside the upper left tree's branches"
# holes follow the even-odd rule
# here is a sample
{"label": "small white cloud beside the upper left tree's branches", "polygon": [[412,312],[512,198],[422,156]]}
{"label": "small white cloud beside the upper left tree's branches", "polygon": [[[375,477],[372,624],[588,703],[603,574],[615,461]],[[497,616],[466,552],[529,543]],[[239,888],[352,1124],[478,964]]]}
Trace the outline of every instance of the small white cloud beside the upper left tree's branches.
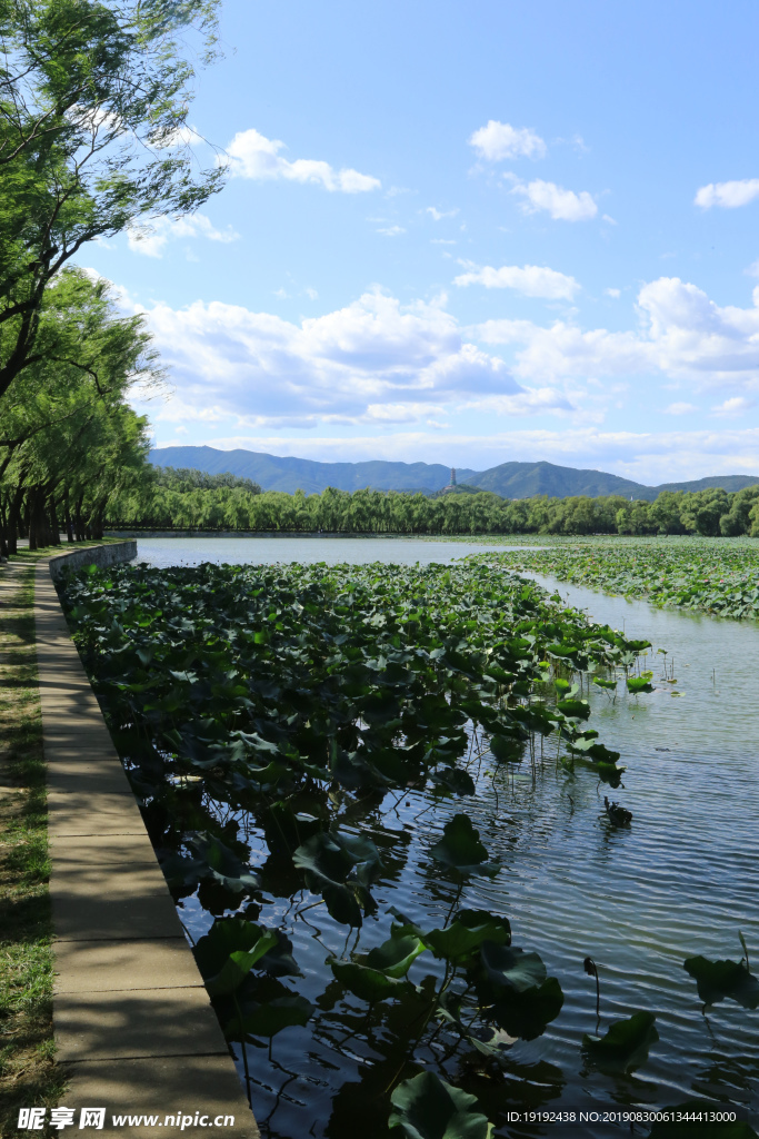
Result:
{"label": "small white cloud beside the upper left tree's branches", "polygon": [[279,153],[284,142],[267,139],[256,130],[239,131],[229,147],[226,157],[220,163],[226,165],[234,178],[251,178],[257,181],[284,179],[291,182],[312,182],[325,190],[343,194],[364,194],[378,190],[381,182],[370,174],[344,167],[335,170],[328,162],[312,158],[296,158],[290,162]]}

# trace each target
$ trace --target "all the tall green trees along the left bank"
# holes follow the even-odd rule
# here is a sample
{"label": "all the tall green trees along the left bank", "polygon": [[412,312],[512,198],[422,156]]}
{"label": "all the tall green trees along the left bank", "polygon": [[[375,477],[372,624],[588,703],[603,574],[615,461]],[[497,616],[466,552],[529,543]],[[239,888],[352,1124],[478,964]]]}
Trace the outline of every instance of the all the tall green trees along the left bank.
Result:
{"label": "all the tall green trees along the left bank", "polygon": [[[145,478],[145,318],[77,260],[221,188],[187,117],[218,0],[0,0],[0,554],[99,538]],[[191,60],[196,60],[192,63]]]}

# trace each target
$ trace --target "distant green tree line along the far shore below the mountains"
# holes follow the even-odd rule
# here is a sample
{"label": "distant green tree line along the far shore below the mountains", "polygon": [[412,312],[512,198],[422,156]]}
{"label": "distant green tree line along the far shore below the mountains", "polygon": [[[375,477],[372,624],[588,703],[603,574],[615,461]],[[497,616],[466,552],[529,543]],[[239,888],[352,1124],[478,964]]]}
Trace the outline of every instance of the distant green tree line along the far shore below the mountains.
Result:
{"label": "distant green tree line along the far shore below the mountains", "polygon": [[663,491],[653,502],[604,498],[502,499],[482,491],[429,498],[402,491],[262,492],[250,480],[155,468],[114,491],[113,530],[340,534],[702,534],[759,536],[759,485]]}

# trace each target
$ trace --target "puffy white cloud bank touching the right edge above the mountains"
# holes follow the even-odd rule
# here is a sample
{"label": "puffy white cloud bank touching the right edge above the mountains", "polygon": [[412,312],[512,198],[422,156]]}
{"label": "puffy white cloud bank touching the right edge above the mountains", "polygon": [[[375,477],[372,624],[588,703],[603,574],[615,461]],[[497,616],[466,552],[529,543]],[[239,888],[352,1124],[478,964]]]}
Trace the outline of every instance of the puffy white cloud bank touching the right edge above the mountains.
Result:
{"label": "puffy white cloud bank touching the right edge above the mountains", "polygon": [[566,320],[489,320],[472,329],[486,344],[512,345],[514,374],[525,380],[663,374],[696,387],[759,390],[759,286],[753,306],[720,308],[678,277],[644,285],[635,331],[584,331]]}

